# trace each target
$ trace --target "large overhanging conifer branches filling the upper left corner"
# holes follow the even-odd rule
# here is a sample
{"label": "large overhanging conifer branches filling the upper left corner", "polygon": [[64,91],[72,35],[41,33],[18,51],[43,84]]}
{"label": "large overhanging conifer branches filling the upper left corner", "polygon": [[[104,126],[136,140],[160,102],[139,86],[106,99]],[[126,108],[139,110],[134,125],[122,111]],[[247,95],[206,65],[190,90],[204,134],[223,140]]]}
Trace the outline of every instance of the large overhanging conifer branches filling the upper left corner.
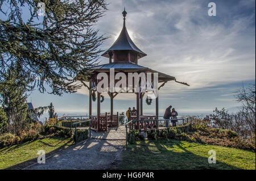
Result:
{"label": "large overhanging conifer branches filling the upper left corner", "polygon": [[[38,14],[39,3],[44,16]],[[89,73],[84,68],[98,60],[106,39],[94,28],[105,10],[105,0],[1,0],[0,81],[18,62],[22,74],[36,77],[41,92],[46,85],[52,94],[75,92],[82,86],[76,75]]]}

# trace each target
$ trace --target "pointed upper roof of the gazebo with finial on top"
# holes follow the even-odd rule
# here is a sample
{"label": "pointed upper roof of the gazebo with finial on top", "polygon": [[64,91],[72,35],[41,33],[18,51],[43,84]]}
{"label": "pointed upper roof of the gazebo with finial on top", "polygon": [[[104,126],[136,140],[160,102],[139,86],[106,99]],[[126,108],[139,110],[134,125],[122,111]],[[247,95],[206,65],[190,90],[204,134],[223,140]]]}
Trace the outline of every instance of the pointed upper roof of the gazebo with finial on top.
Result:
{"label": "pointed upper roof of the gazebo with finial on top", "polygon": [[114,44],[108,49],[106,50],[102,56],[104,57],[109,57],[109,53],[113,52],[114,50],[132,50],[135,53],[138,54],[138,58],[142,58],[144,56],[146,56],[147,54],[142,52],[142,50],[140,50],[134,43],[133,40],[131,40],[126,27],[125,27],[125,16],[127,14],[127,12],[124,10],[122,12],[123,14],[123,28],[122,31],[120,33],[120,35],[118,36],[118,39],[114,42]]}

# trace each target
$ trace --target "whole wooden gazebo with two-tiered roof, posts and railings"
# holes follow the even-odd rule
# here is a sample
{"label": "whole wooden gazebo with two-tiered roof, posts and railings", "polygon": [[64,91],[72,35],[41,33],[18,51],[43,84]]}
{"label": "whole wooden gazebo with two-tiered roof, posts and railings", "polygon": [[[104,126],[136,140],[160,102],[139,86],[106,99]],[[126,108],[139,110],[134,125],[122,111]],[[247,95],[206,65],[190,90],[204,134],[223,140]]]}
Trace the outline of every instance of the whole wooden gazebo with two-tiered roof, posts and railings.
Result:
{"label": "whole wooden gazebo with two-tiered roof, posts and railings", "polygon": [[[144,66],[138,65],[138,59],[146,56],[147,54],[142,52],[131,40],[125,26],[125,17],[127,12],[124,10],[123,14],[123,28],[118,37],[118,39],[114,42],[112,47],[106,50],[102,56],[109,58],[109,64],[104,65],[97,65],[89,68],[92,70],[92,73],[88,78],[82,81],[89,82],[89,86],[84,83],[84,85],[89,89],[89,116],[92,120],[92,129],[98,132],[106,132],[108,131],[108,127],[117,127],[118,126],[118,112],[116,115],[113,113],[113,100],[118,92],[108,92],[110,96],[110,115],[105,113],[104,115],[101,114],[101,93],[97,92],[97,74],[98,73],[106,73],[110,74],[110,69],[114,69],[114,74],[118,72],[125,73],[158,73],[158,83],[160,87],[163,87],[164,84],[168,81],[176,81],[175,77],[170,75],[160,73],[159,71],[152,70],[150,68],[146,68]],[[86,69],[88,70],[88,68]],[[118,80],[115,80],[117,82]],[[176,81],[177,82],[177,81]],[[183,83],[183,82],[178,82]],[[187,83],[183,83],[187,85]],[[97,92],[97,115],[92,115],[92,94]],[[122,92],[123,93],[123,92]],[[131,119],[133,120],[148,120],[146,125],[143,123],[138,123],[138,129],[147,127],[150,129],[154,129],[156,127],[156,119],[158,119],[159,112],[158,112],[158,101],[159,97],[155,99],[155,115],[143,115],[143,96],[145,92],[133,92],[136,94],[137,97],[137,116],[132,116]]]}

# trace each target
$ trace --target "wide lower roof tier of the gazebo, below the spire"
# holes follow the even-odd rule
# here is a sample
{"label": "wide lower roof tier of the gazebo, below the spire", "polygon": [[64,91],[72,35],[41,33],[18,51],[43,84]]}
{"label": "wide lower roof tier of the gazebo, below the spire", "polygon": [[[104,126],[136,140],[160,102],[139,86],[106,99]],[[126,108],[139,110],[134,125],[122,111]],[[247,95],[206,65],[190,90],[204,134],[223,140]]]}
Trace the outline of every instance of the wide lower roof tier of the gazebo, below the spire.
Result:
{"label": "wide lower roof tier of the gazebo, below the spire", "polygon": [[93,70],[91,74],[99,73],[99,72],[109,72],[110,69],[115,69],[115,71],[123,71],[123,72],[150,72],[150,73],[158,73],[158,81],[159,82],[167,82],[167,81],[174,81],[175,77],[171,75],[164,74],[160,71],[152,70],[150,68],[146,68],[144,66],[134,64],[133,62],[114,62],[110,64],[102,64],[87,68],[89,70]]}

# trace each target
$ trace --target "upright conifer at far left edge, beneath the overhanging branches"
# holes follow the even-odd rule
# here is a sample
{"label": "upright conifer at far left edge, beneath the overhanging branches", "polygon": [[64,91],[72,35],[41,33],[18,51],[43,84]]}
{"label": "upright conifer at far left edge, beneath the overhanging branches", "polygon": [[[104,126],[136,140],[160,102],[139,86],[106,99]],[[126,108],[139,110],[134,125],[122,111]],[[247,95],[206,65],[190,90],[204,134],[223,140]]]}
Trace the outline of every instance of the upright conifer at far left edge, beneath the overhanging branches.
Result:
{"label": "upright conifer at far left edge, beneath the overhanging branches", "polygon": [[0,103],[8,118],[9,132],[18,133],[26,127],[27,117],[27,90],[33,89],[30,85],[33,77],[23,74],[21,66],[17,63],[11,65],[3,81],[0,82]]}

